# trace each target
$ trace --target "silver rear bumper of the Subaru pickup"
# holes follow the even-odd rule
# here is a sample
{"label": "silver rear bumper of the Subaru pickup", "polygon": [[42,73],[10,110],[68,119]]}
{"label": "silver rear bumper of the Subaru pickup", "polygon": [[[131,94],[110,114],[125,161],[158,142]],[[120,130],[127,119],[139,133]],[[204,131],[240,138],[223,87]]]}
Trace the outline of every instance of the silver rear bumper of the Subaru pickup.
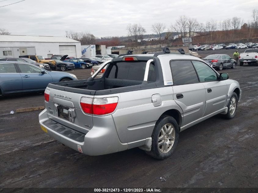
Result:
{"label": "silver rear bumper of the Subaru pickup", "polygon": [[[95,120],[93,127],[86,134],[82,134],[72,128],[65,127],[47,116],[47,109],[39,114],[39,123],[47,129],[47,134],[60,143],[86,155],[105,155],[124,151],[128,143],[121,143],[111,115]],[[103,125],[105,127],[103,127]]]}

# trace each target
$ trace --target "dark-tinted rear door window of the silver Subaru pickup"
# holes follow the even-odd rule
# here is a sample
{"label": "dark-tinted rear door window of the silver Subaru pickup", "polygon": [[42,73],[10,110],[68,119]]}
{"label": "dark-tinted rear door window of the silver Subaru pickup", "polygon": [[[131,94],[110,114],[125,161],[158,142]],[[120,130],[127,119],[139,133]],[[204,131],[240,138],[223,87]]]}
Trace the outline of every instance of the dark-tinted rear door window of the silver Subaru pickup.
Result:
{"label": "dark-tinted rear door window of the silver Subaru pickup", "polygon": [[191,84],[199,82],[194,67],[189,60],[178,60],[170,63],[174,84]]}

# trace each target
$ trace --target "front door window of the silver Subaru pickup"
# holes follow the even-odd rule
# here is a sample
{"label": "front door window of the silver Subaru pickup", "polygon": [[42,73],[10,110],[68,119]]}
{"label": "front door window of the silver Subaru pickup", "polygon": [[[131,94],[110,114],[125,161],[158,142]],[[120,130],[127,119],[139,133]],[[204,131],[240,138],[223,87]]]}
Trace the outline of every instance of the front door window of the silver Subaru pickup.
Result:
{"label": "front door window of the silver Subaru pickup", "polygon": [[200,61],[192,61],[201,82],[217,80],[217,74],[207,64]]}

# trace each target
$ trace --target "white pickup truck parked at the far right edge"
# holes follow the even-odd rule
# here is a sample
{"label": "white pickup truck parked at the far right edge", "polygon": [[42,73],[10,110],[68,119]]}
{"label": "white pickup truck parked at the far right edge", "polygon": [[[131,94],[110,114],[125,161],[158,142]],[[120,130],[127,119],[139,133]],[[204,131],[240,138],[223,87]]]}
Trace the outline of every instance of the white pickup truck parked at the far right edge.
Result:
{"label": "white pickup truck parked at the far right edge", "polygon": [[258,66],[258,49],[247,49],[239,55],[240,66],[244,64],[255,64]]}

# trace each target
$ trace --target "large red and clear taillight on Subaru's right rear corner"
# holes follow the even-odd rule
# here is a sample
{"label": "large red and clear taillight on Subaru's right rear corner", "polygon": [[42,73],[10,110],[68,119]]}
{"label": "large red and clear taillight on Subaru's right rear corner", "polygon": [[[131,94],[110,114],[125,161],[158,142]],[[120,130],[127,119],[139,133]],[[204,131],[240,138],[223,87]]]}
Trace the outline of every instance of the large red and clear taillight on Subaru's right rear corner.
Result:
{"label": "large red and clear taillight on Subaru's right rear corner", "polygon": [[112,113],[117,104],[118,97],[105,97],[105,98],[81,98],[81,107],[85,113],[94,115],[106,115]]}

